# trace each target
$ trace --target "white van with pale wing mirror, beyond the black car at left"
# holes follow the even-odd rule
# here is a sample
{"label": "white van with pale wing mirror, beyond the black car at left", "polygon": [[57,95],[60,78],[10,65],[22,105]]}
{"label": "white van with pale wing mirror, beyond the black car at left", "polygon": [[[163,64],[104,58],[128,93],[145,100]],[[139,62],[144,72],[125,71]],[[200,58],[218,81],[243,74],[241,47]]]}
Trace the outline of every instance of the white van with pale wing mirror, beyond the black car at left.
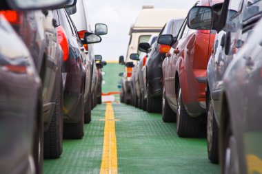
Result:
{"label": "white van with pale wing mirror, beyond the black car at left", "polygon": [[[90,75],[86,74],[86,87],[88,85],[89,88],[85,89],[84,94],[84,103],[85,103],[85,122],[88,123],[91,121],[91,112],[88,108],[91,107],[93,109],[97,105],[97,98],[95,97],[97,94],[98,85],[98,76],[97,76],[97,66],[94,61],[94,46],[92,44],[85,43],[83,36],[85,32],[92,32],[90,21],[88,20],[88,2],[85,0],[77,1],[76,6],[72,8],[66,9],[72,21],[76,25],[77,32],[79,33],[80,39],[83,42],[83,47],[85,48],[85,52],[88,54],[88,61],[90,61],[90,67],[86,67],[90,70]],[[103,23],[97,23],[95,25],[95,34],[104,35],[108,33],[107,26]],[[88,106],[91,105],[91,106]]]}

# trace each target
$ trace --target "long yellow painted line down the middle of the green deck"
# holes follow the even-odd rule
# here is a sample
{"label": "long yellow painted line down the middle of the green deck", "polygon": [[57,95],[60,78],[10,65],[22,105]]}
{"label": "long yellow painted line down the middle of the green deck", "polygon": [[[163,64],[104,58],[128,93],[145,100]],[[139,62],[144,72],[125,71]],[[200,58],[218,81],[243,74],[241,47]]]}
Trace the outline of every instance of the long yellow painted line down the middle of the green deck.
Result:
{"label": "long yellow painted line down the middle of the green deck", "polygon": [[117,173],[117,138],[114,123],[114,110],[112,104],[107,103],[105,109],[103,157],[101,162],[100,174]]}

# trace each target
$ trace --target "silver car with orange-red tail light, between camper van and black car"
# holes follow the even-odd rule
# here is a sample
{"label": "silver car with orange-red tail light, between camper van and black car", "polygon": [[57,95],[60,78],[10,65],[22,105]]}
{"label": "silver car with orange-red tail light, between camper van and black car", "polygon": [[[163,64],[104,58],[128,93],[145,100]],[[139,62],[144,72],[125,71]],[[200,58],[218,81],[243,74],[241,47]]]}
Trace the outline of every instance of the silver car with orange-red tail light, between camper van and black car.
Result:
{"label": "silver car with orange-red tail light, between camper van and black car", "polygon": [[[148,43],[151,46],[156,40],[157,40],[157,35],[153,34],[152,36],[150,36]],[[139,59],[137,59],[137,56],[139,56]],[[144,90],[146,89],[145,88],[146,84],[143,82],[142,68],[145,66],[147,58],[148,58],[148,54],[146,54],[145,52],[141,52],[140,55],[135,53],[130,54],[131,60],[139,61],[139,63],[137,63],[137,65],[135,65],[134,67],[137,70],[134,71],[134,68],[132,70],[131,87],[134,87],[133,90],[134,94],[132,94],[133,96],[132,99],[134,100],[135,103],[134,105],[136,107],[139,107],[140,109],[143,109],[144,111],[146,111],[146,98],[144,92]]]}

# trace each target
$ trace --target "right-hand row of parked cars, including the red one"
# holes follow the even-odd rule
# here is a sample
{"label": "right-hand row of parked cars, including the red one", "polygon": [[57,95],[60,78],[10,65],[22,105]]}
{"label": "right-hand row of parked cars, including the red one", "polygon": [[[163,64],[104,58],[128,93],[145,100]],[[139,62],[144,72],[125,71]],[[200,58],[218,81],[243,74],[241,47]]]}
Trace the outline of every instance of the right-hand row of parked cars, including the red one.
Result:
{"label": "right-hand row of parked cars, including the red one", "polygon": [[261,15],[261,0],[201,0],[182,22],[172,19],[179,32],[165,32],[168,22],[139,43],[133,61],[119,59],[132,67],[131,104],[161,111],[180,137],[206,129],[208,158],[221,173],[261,173]]}

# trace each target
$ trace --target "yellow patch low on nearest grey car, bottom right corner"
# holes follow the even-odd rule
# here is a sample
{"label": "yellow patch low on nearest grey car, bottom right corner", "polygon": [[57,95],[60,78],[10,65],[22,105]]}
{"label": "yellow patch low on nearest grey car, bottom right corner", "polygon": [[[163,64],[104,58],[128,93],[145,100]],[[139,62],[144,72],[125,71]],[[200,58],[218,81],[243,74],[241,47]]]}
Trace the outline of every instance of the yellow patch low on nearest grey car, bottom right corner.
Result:
{"label": "yellow patch low on nearest grey car, bottom right corner", "polygon": [[248,173],[262,173],[262,160],[253,154],[247,155]]}

